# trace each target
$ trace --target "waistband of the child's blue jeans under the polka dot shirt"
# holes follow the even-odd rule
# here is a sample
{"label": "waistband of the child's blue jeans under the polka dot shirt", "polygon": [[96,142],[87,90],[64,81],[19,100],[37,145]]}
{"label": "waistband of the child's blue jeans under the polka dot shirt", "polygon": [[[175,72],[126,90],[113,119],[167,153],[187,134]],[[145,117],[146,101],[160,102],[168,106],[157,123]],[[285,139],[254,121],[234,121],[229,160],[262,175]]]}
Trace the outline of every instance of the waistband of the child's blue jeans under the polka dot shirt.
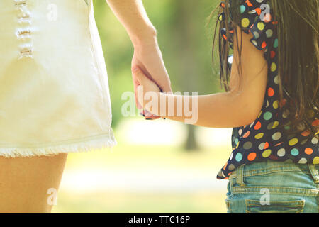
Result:
{"label": "waistband of the child's blue jeans under the polka dot shirt", "polygon": [[236,179],[237,184],[245,186],[244,177],[265,175],[274,172],[303,171],[313,177],[315,184],[319,184],[318,170],[318,164],[297,164],[267,160],[266,162],[255,162],[249,165],[240,165],[229,176],[229,179]]}

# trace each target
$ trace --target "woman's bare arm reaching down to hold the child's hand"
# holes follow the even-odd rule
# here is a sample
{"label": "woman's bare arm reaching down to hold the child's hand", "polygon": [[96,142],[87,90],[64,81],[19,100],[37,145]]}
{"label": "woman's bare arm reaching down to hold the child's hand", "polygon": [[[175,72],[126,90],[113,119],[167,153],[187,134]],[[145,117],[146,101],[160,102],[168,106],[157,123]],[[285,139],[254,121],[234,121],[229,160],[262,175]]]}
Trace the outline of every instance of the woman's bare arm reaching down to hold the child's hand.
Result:
{"label": "woman's bare arm reaching down to hold the child's hand", "polygon": [[[157,33],[142,5],[142,0],[106,0],[113,13],[125,27],[134,46],[132,67],[140,67],[164,92],[172,92],[169,75],[157,43]],[[138,80],[133,74],[135,91]],[[136,100],[138,105],[138,102]],[[138,106],[140,108],[140,106]],[[150,118],[158,118],[150,116]]]}

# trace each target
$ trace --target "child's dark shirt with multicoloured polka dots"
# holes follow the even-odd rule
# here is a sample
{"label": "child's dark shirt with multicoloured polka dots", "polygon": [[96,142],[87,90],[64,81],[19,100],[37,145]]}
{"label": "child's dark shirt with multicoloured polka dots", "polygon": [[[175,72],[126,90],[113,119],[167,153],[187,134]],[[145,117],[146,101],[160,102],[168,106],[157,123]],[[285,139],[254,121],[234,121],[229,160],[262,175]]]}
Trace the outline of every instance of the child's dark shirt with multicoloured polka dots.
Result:
{"label": "child's dark shirt with multicoloured polka dots", "polygon": [[[267,88],[264,96],[264,104],[257,119],[250,125],[233,128],[232,147],[228,161],[218,172],[218,179],[228,179],[229,175],[243,164],[274,160],[280,162],[295,162],[301,164],[319,164],[318,132],[315,135],[305,130],[301,133],[290,134],[286,129],[278,128],[289,112],[281,111],[280,106],[285,105],[286,99],[279,102],[279,77],[278,65],[278,38],[276,33],[276,21],[272,18],[272,9],[268,0],[236,0],[236,7],[240,11],[240,28],[245,33],[252,33],[250,40],[258,50],[264,50],[264,56],[268,63]],[[264,5],[267,4],[267,5]],[[225,10],[225,2],[220,6]],[[265,9],[269,9],[264,11]],[[266,13],[264,13],[266,12]],[[218,17],[225,20],[225,12]],[[230,35],[233,28],[230,28]],[[220,35],[225,40],[227,37],[225,28],[221,28]],[[230,48],[233,48],[230,45]],[[231,64],[232,56],[228,58]],[[313,126],[318,125],[318,116],[312,115]]]}

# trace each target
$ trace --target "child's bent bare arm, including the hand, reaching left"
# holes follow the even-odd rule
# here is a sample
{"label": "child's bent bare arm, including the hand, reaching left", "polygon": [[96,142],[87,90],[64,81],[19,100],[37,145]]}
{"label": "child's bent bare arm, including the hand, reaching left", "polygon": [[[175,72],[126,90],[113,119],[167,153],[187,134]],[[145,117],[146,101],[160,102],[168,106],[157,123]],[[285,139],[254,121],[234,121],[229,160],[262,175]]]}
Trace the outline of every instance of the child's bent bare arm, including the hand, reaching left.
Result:
{"label": "child's bent bare arm, including the hand, reaching left", "polygon": [[[186,119],[190,117],[185,116],[184,111],[182,116],[176,116],[176,113],[182,109],[180,103],[189,101],[189,106],[194,106],[194,108],[190,110],[192,114],[198,114],[198,120],[194,122],[194,125],[198,126],[232,128],[252,123],[262,109],[268,68],[263,56],[264,52],[257,50],[252,43],[250,43],[251,35],[242,33],[242,87],[240,89],[240,79],[237,72],[239,56],[236,46],[236,37],[238,37],[238,43],[241,42],[240,28],[238,28],[238,33],[238,35],[234,35],[234,57],[230,74],[229,92],[197,96],[198,106],[196,108],[196,105],[192,103],[194,99],[191,99],[191,96],[160,93],[157,86],[150,79],[145,77],[139,69],[135,69],[133,73],[138,77],[144,94],[145,92],[155,91],[156,93],[154,94],[158,100],[165,99],[166,101],[165,107],[158,105],[158,111],[155,108],[147,106],[147,101],[145,101],[142,96],[139,96],[138,99],[140,104],[143,104],[144,108],[152,114],[157,114],[174,121],[186,121]],[[168,113],[169,98],[174,99],[174,116],[169,116]],[[166,111],[163,111],[163,108],[165,108]]]}

